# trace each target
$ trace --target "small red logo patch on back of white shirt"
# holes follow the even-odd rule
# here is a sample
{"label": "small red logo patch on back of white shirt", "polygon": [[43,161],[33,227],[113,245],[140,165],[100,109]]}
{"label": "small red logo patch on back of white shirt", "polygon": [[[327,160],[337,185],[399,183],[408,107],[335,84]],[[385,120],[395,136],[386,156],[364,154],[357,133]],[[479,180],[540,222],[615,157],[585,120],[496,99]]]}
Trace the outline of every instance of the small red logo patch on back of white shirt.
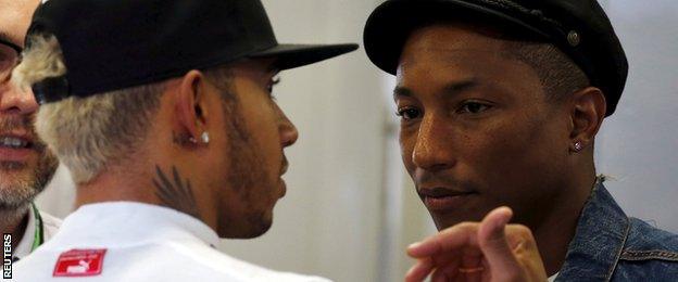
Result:
{"label": "small red logo patch on back of white shirt", "polygon": [[61,253],[53,277],[93,277],[101,274],[105,248],[71,249]]}

